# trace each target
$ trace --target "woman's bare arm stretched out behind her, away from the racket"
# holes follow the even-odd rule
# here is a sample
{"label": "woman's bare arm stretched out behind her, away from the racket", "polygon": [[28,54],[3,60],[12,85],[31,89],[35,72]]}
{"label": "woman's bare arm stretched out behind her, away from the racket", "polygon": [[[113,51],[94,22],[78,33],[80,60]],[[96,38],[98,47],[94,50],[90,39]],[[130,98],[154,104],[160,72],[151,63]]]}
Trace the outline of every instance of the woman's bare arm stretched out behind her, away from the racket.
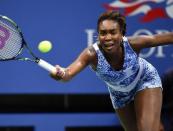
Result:
{"label": "woman's bare arm stretched out behind her, away from the racket", "polygon": [[139,53],[143,48],[173,44],[173,33],[157,34],[153,36],[141,35],[128,37],[132,48]]}

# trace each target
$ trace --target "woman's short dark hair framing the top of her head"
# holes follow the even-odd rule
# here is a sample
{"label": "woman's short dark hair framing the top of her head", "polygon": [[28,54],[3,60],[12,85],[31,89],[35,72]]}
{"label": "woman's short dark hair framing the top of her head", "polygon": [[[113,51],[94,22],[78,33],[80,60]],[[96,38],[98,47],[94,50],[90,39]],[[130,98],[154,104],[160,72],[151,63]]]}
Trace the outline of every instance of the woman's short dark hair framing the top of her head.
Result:
{"label": "woman's short dark hair framing the top of her head", "polygon": [[113,20],[118,22],[121,32],[123,36],[126,34],[126,20],[123,15],[121,15],[118,11],[107,11],[102,13],[97,21],[97,32],[99,32],[99,25],[104,20]]}

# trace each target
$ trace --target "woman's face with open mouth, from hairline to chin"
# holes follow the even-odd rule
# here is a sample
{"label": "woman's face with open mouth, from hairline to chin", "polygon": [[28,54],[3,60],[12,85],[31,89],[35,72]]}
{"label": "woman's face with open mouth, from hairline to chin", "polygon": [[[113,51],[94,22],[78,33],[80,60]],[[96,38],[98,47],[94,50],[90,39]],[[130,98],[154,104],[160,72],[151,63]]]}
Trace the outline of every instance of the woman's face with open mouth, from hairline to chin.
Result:
{"label": "woman's face with open mouth, from hairline to chin", "polygon": [[106,53],[114,53],[120,49],[123,38],[118,22],[104,20],[99,25],[99,41]]}

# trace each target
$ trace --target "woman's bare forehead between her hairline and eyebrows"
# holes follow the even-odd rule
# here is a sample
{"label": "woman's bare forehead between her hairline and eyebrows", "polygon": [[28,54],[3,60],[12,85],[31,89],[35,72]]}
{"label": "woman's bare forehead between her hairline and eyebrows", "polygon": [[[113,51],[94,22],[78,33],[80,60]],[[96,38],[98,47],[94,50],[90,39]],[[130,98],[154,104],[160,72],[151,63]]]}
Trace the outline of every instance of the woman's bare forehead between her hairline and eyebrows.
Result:
{"label": "woman's bare forehead between her hairline and eyebrows", "polygon": [[100,22],[99,30],[112,30],[119,29],[119,23],[113,20],[103,20]]}

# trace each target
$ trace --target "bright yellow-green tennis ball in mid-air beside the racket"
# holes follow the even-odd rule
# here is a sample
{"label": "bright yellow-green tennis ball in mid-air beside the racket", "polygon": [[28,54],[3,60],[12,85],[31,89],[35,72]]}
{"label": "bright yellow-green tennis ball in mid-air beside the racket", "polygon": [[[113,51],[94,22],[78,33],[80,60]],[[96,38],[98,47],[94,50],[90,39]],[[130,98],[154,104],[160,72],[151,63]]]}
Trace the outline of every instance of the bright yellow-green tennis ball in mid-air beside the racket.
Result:
{"label": "bright yellow-green tennis ball in mid-air beside the racket", "polygon": [[41,41],[38,44],[38,50],[42,53],[47,53],[52,49],[52,43],[48,40]]}

